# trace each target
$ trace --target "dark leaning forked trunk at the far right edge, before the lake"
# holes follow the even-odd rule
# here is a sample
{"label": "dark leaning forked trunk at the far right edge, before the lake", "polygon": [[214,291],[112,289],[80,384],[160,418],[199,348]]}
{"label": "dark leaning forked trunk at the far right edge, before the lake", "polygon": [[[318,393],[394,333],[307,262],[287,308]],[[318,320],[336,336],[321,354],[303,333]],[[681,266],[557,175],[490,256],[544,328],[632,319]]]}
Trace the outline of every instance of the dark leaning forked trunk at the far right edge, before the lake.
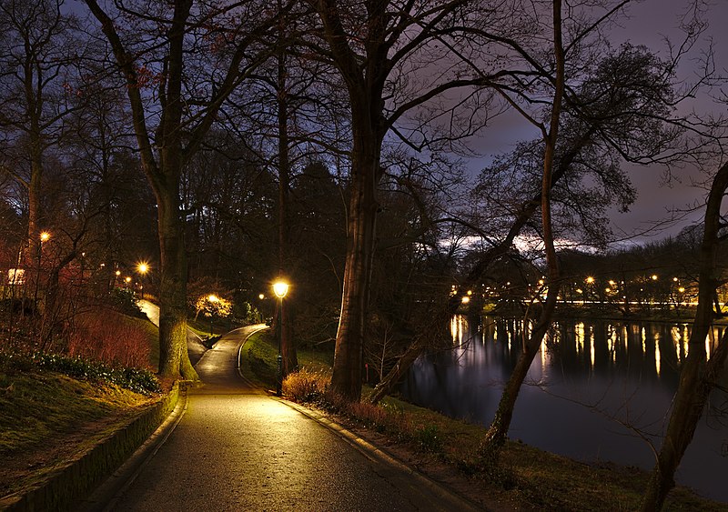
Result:
{"label": "dark leaning forked trunk at the far right edge, before the lake", "polygon": [[713,325],[713,296],[719,284],[717,265],[718,243],[721,229],[721,206],[728,189],[728,164],[719,169],[705,208],[703,242],[700,252],[700,276],[698,308],[693,321],[693,331],[688,341],[688,356],[680,368],[680,383],[674,400],[667,432],[652,478],[644,493],[642,510],[661,510],[665,498],[674,487],[674,475],[685,450],[693,441],[695,427],[703,416],[703,410],[711,391],[723,372],[728,355],[728,332],[723,335],[718,348],[706,362],[705,337]]}

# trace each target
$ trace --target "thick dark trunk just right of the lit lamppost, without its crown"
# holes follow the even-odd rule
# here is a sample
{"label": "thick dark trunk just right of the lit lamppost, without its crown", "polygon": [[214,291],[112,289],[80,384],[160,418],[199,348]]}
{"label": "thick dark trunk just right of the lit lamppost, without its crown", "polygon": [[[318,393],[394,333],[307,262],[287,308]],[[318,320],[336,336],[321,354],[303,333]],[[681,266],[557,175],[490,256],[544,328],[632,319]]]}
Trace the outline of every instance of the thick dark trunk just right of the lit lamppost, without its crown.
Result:
{"label": "thick dark trunk just right of the lit lamppost, without its crown", "polygon": [[351,108],[351,171],[349,218],[339,329],[336,335],[331,388],[350,401],[361,398],[369,288],[377,224],[377,186],[383,176],[379,157],[387,126],[383,118],[384,84],[388,73],[386,37],[387,2],[368,3],[367,55],[362,62],[349,46],[349,35],[334,0],[309,0],[349,92]]}

